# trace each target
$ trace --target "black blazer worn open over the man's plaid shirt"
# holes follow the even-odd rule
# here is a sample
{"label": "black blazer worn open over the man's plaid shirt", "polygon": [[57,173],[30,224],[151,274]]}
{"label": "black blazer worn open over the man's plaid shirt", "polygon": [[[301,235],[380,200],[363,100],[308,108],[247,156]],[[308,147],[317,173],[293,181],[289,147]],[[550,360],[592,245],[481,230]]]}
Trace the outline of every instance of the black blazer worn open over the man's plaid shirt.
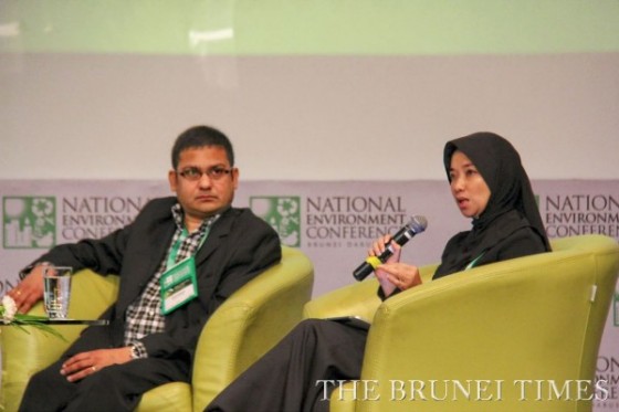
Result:
{"label": "black blazer worn open over the man's plaid shirt", "polygon": [[[153,200],[127,226],[101,240],[55,246],[36,260],[73,266],[74,271],[91,268],[120,277],[118,299],[102,316],[111,320],[111,326],[91,327],[88,329],[96,328],[96,332],[85,332],[82,338],[92,335],[93,339],[97,339],[96,336],[101,339],[105,329],[113,346],[124,346],[125,310],[141,294],[170,246],[176,230],[171,207],[176,202],[174,197]],[[199,296],[166,316],[165,332],[141,340],[148,356],[181,357],[191,361],[198,337],[212,313],[232,293],[280,258],[280,239],[271,226],[249,209],[224,211],[196,255]],[[90,344],[92,341],[87,346]],[[78,351],[80,347],[77,344],[70,352]]]}

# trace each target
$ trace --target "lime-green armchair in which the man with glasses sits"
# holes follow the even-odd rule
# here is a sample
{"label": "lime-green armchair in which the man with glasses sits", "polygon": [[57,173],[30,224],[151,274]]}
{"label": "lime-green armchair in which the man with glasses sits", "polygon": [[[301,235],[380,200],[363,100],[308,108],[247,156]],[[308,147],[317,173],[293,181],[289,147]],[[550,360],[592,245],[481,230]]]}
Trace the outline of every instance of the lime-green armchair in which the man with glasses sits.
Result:
{"label": "lime-green armchair in which the man with glasses sits", "polygon": [[[90,271],[74,275],[70,317],[96,318],[116,299],[116,276]],[[302,317],[310,300],[314,268],[298,250],[282,247],[282,261],[235,292],[211,316],[200,336],[191,385],[167,383],[146,392],[137,408],[147,411],[202,411],[239,373],[274,346]],[[43,314],[38,304],[31,314]],[[81,326],[59,326],[73,341]],[[30,334],[2,327],[1,406],[15,411],[25,384],[38,370],[52,363],[69,342],[29,327]],[[2,409],[0,406],[0,409]]]}

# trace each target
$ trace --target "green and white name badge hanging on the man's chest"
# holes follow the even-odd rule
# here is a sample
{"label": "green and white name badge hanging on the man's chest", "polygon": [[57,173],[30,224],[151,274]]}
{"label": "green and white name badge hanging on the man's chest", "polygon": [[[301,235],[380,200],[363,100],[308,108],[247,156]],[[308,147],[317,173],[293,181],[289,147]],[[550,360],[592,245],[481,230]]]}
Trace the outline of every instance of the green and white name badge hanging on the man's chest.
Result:
{"label": "green and white name badge hanging on the man's chest", "polygon": [[167,270],[159,279],[161,287],[161,313],[168,315],[198,296],[196,260],[193,256],[180,261]]}

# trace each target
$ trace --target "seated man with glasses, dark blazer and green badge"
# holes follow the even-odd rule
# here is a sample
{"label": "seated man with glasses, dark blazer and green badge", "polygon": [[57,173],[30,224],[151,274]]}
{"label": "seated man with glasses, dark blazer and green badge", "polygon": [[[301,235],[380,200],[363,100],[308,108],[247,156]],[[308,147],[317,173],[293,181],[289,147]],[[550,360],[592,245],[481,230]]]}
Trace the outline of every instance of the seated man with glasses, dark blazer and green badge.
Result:
{"label": "seated man with glasses, dark blazer and green badge", "polygon": [[150,201],[133,223],[103,239],[55,246],[9,293],[28,311],[43,296],[46,264],[120,276],[118,300],[102,316],[109,326],[85,329],[36,373],[20,410],[132,411],[147,390],[189,382],[209,316],[281,258],[277,234],[249,209],[231,207],[239,169],[225,135],[192,127],[171,157],[176,197]]}

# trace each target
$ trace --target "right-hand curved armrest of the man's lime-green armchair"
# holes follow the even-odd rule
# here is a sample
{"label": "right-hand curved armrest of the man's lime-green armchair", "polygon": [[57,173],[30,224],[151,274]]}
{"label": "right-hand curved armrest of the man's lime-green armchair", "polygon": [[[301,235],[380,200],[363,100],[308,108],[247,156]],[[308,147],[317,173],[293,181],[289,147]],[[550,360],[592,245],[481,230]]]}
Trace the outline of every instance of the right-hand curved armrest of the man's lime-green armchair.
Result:
{"label": "right-hand curved armrest of the man's lime-green armchair", "polygon": [[301,320],[313,283],[314,266],[307,256],[283,246],[280,263],[237,290],[217,309],[196,349],[195,411],[203,410]]}

